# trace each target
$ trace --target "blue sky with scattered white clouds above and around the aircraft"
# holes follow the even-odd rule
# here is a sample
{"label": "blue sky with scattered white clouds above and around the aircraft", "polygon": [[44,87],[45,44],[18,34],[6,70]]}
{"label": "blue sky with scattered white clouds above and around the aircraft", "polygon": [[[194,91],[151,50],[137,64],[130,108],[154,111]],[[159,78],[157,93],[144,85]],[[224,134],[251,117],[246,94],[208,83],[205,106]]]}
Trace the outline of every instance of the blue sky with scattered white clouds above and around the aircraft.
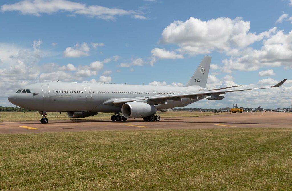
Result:
{"label": "blue sky with scattered white clouds above and around the aircraft", "polygon": [[292,104],[292,0],[2,0],[0,26],[0,106],[37,82],[182,86],[205,55],[208,88],[288,80],[187,107]]}

